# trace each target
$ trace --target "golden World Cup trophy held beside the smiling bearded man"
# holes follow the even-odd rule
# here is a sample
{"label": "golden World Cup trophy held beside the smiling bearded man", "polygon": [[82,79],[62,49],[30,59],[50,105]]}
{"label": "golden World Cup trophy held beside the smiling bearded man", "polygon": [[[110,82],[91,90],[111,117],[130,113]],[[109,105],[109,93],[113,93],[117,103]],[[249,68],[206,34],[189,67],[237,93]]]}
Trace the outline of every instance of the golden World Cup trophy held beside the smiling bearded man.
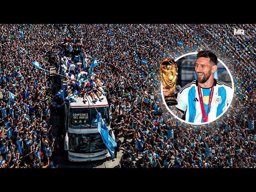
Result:
{"label": "golden World Cup trophy held beside the smiling bearded man", "polygon": [[160,77],[163,86],[164,100],[168,106],[178,104],[174,90],[176,89],[176,80],[178,75],[178,66],[176,62],[170,58],[162,61],[160,64]]}

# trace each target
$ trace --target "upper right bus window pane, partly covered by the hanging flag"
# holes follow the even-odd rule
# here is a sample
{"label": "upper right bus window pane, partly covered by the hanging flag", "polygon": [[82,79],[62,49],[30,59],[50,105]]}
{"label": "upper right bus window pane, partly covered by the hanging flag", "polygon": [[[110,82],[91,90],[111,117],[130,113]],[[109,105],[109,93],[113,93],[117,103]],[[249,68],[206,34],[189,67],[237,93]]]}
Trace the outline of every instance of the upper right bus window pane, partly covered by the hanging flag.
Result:
{"label": "upper right bus window pane, partly covered by the hanging flag", "polygon": [[[100,113],[102,120],[109,126],[109,112],[108,107],[99,107],[97,108],[98,112]],[[91,108],[91,126],[97,126],[97,111],[95,108]]]}

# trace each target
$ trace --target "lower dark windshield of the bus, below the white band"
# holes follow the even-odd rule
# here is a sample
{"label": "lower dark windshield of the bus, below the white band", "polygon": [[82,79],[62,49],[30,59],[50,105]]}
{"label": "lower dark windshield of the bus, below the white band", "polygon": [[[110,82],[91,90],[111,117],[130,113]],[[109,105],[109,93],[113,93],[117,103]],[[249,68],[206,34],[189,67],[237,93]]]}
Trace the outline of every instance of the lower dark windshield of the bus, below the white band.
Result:
{"label": "lower dark windshield of the bus, below the white band", "polygon": [[69,134],[69,150],[74,153],[88,153],[106,150],[100,133]]}

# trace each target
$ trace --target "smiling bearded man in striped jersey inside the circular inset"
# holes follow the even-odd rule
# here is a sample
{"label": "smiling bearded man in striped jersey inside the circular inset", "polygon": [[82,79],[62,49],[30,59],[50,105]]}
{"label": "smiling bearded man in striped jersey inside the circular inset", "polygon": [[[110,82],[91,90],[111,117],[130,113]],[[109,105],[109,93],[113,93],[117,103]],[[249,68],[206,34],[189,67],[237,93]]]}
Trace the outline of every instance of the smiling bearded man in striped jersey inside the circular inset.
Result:
{"label": "smiling bearded man in striped jersey inside the circular inset", "polygon": [[212,122],[232,101],[232,86],[214,79],[217,63],[217,56],[209,50],[198,52],[197,79],[184,86],[177,95],[176,109],[183,120],[198,124]]}

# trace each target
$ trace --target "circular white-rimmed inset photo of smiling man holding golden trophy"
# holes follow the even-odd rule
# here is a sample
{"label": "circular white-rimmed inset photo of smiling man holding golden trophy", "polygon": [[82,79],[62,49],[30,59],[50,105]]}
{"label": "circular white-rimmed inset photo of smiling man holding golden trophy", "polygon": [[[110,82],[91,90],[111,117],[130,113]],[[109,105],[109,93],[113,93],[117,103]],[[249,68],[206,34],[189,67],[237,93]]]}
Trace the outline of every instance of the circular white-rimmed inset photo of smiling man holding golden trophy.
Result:
{"label": "circular white-rimmed inset photo of smiling man holding golden trophy", "polygon": [[220,118],[234,96],[227,66],[209,50],[160,64],[161,94],[168,111],[182,122],[202,125]]}

